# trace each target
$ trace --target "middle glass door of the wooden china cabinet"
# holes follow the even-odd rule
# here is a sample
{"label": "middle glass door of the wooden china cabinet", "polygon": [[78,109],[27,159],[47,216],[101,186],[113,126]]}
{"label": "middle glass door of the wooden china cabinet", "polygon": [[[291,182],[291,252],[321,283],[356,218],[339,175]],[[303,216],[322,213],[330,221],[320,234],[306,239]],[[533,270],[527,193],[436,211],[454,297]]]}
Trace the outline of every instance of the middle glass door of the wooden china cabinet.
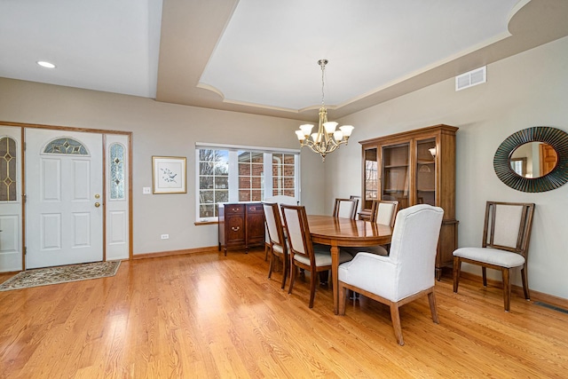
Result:
{"label": "middle glass door of the wooden china cabinet", "polygon": [[398,209],[408,207],[409,144],[383,146],[382,200],[398,201]]}

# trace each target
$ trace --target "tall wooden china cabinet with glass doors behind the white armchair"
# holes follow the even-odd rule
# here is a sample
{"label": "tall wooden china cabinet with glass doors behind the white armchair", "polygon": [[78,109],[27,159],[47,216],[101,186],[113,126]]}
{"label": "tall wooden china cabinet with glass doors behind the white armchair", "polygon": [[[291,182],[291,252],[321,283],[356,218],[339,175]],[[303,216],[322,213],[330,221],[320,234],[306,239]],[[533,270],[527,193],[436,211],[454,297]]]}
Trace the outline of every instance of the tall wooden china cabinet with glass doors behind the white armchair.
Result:
{"label": "tall wooden china cabinet with glass doors behind the white armchair", "polygon": [[370,214],[374,200],[398,201],[398,209],[430,204],[444,209],[438,240],[436,276],[451,265],[457,249],[455,219],[455,132],[434,125],[381,138],[362,146],[362,204],[359,217]]}

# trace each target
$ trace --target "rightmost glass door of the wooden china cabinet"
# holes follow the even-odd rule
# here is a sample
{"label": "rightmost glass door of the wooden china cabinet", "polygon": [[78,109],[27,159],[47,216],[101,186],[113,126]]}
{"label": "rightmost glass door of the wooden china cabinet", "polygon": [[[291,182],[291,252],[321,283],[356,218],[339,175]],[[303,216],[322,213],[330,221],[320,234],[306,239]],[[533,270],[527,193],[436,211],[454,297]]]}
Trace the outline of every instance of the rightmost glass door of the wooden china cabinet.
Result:
{"label": "rightmost glass door of the wooden china cabinet", "polygon": [[416,202],[436,205],[436,138],[416,141]]}

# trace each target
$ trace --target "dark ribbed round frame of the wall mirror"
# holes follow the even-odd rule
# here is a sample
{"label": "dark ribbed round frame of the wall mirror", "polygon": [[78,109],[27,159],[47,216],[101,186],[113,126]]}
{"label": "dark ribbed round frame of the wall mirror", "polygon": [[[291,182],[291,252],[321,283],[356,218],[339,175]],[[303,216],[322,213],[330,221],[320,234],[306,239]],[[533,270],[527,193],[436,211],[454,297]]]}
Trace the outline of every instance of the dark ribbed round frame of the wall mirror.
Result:
{"label": "dark ribbed round frame of the wall mirror", "polygon": [[[509,159],[518,146],[529,142],[544,142],[556,150],[558,162],[554,170],[540,178],[523,178],[511,169]],[[568,182],[568,133],[548,126],[519,130],[506,138],[493,158],[495,174],[507,186],[522,192],[550,191]]]}

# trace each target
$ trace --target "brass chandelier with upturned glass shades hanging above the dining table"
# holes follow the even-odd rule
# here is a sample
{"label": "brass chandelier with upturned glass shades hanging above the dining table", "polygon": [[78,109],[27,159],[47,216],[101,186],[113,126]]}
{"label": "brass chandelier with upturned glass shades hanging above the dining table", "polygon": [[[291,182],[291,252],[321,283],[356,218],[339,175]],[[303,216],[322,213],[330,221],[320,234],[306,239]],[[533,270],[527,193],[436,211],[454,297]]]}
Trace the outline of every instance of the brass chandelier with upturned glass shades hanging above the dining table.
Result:
{"label": "brass chandelier with upturned glass shades hanging above the dining table", "polygon": [[300,125],[300,130],[296,130],[296,136],[300,141],[300,146],[308,146],[314,153],[321,155],[321,161],[326,162],[326,155],[335,151],[340,145],[347,145],[347,141],[354,129],[351,125],[343,125],[337,128],[337,122],[327,121],[327,108],[324,103],[324,72],[326,70],[327,59],[318,60],[321,67],[321,107],[319,108],[318,132],[312,133],[313,125],[306,123]]}

